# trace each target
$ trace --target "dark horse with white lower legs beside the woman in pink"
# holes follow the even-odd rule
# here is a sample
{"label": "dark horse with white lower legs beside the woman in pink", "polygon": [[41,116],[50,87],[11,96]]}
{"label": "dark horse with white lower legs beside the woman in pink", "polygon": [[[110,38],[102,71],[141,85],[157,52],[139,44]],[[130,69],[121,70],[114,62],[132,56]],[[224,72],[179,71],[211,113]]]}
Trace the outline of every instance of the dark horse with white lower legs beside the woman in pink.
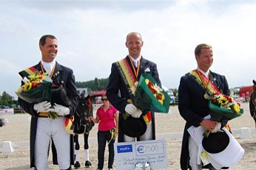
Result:
{"label": "dark horse with white lower legs beside the woman in pink", "polygon": [[74,129],[74,143],[75,143],[75,169],[79,169],[81,167],[79,163],[79,141],[78,141],[78,135],[83,134],[84,135],[84,155],[85,155],[85,166],[89,167],[92,164],[89,160],[89,146],[88,146],[88,137],[89,132],[94,126],[93,121],[90,121],[90,117],[93,116],[93,108],[92,103],[90,102],[90,96],[87,97],[84,96],[84,93],[81,93],[78,101],[78,107],[74,114],[75,119],[75,129]]}

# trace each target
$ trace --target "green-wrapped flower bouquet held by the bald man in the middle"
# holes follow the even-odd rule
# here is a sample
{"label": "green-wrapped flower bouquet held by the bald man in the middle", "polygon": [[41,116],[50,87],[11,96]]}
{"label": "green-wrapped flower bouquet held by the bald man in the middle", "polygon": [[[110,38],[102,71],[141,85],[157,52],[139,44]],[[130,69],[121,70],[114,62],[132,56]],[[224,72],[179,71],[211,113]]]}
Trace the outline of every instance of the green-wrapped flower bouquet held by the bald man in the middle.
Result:
{"label": "green-wrapped flower bouquet held by the bald man in the middle", "polygon": [[160,88],[152,75],[141,74],[135,89],[134,105],[141,110],[168,113],[169,102],[168,94]]}

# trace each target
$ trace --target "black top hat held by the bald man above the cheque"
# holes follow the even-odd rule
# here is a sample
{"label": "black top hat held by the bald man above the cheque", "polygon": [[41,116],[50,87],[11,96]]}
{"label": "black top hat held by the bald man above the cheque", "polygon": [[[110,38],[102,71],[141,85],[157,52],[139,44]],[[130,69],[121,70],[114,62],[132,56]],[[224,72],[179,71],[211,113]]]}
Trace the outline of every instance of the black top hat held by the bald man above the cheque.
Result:
{"label": "black top hat held by the bald man above the cheque", "polygon": [[146,132],[146,122],[142,115],[140,118],[132,118],[132,116],[129,116],[121,123],[121,128],[125,135],[135,138]]}

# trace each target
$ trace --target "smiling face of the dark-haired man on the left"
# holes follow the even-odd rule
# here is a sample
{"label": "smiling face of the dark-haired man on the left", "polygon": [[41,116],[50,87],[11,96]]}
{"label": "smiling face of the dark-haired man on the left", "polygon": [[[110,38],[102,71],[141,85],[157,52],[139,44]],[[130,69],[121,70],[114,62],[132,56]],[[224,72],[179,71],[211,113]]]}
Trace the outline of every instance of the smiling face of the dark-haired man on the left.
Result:
{"label": "smiling face of the dark-haired man on the left", "polygon": [[58,43],[56,39],[47,38],[44,46],[39,45],[41,50],[42,60],[44,62],[52,62],[58,52]]}

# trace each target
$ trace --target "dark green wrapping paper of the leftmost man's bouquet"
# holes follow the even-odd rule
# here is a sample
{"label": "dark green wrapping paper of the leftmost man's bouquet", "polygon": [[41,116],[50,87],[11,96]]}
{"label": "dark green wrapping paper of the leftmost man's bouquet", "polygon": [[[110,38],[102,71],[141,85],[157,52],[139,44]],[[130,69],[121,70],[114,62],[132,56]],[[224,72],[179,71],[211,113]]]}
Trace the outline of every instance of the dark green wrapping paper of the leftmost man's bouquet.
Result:
{"label": "dark green wrapping paper of the leftmost man's bouquet", "polygon": [[52,96],[52,82],[43,80],[41,85],[36,88],[32,88],[29,91],[22,91],[17,93],[19,98],[29,103],[38,103],[42,101],[50,101]]}

